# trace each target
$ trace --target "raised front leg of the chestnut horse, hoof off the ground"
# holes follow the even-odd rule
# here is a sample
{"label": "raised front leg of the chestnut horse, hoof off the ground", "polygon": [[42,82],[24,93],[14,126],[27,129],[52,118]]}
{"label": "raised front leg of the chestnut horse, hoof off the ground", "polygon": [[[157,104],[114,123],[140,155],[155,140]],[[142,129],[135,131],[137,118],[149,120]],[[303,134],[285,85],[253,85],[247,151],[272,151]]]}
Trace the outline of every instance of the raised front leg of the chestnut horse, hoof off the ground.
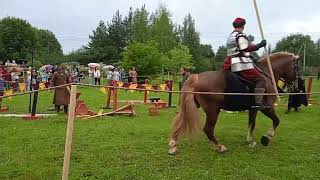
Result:
{"label": "raised front leg of the chestnut horse, hoof off the ground", "polygon": [[279,126],[280,119],[276,115],[274,108],[263,110],[261,112],[265,114],[267,117],[269,117],[270,119],[272,119],[272,123],[273,123],[273,126],[268,131],[267,135],[264,135],[261,138],[261,144],[264,146],[267,146],[270,140],[272,139],[272,137],[274,136],[277,127]]}

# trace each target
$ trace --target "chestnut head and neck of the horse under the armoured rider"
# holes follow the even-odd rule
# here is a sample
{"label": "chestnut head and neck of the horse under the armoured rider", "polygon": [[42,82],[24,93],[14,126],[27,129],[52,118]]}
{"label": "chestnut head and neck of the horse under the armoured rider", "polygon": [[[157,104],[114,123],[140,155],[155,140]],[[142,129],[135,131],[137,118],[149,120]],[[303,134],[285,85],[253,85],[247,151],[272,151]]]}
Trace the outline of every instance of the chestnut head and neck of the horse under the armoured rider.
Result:
{"label": "chestnut head and neck of the horse under the armoured rider", "polygon": [[[275,77],[288,82],[299,77],[299,60],[300,57],[292,53],[279,52],[270,55]],[[266,58],[262,58],[261,63],[267,63]]]}

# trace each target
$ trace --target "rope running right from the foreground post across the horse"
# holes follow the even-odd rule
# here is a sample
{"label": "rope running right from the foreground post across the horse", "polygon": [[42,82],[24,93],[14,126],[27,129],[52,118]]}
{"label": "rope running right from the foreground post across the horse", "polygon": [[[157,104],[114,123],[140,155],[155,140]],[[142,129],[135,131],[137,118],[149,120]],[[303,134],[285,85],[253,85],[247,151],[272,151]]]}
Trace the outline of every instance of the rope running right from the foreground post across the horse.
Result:
{"label": "rope running right from the foreground post across the horse", "polygon": [[311,95],[311,94],[320,94],[320,92],[313,92],[313,93],[224,93],[224,92],[194,92],[194,91],[163,91],[163,90],[154,90],[154,89],[141,89],[141,88],[124,88],[124,87],[114,87],[108,85],[91,85],[91,84],[81,84],[76,83],[79,86],[85,87],[104,87],[104,88],[113,88],[113,89],[120,89],[120,90],[135,90],[135,91],[150,91],[150,92],[164,92],[164,93],[192,93],[192,94],[205,94],[205,95],[237,95],[237,96],[255,96],[255,95],[263,95],[263,96],[285,96],[285,95]]}

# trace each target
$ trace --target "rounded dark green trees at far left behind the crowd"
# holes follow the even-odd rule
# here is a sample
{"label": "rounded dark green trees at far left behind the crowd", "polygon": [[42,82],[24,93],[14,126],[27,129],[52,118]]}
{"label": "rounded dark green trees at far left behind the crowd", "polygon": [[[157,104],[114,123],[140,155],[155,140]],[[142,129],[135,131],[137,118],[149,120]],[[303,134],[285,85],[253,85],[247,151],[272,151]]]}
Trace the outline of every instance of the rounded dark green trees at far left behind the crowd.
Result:
{"label": "rounded dark green trees at far left behind the crowd", "polygon": [[63,51],[55,35],[32,27],[26,20],[5,17],[0,20],[0,59],[30,60],[36,64],[63,62]]}

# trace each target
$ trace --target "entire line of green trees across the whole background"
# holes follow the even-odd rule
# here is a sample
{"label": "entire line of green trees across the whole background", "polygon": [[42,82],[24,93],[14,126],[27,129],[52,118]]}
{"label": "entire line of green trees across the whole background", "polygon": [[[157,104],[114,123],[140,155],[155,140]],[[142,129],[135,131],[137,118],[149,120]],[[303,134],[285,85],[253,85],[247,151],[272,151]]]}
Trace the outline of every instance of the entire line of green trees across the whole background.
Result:
{"label": "entire line of green trees across the whole background", "polygon": [[[249,36],[249,40],[253,42],[254,37]],[[306,66],[320,66],[320,40],[314,42],[308,35],[284,37],[270,51],[302,54],[304,47]],[[39,64],[104,62],[126,69],[134,66],[140,74],[149,75],[175,73],[181,67],[194,72],[220,69],[226,47],[220,46],[215,54],[211,45],[201,43],[191,14],[185,16],[182,24],[176,24],[163,5],[151,13],[145,6],[130,8],[125,15],[117,11],[110,22],[99,22],[86,45],[66,55],[51,31],[32,27],[15,17],[1,19],[0,59],[31,59],[32,54]]]}

